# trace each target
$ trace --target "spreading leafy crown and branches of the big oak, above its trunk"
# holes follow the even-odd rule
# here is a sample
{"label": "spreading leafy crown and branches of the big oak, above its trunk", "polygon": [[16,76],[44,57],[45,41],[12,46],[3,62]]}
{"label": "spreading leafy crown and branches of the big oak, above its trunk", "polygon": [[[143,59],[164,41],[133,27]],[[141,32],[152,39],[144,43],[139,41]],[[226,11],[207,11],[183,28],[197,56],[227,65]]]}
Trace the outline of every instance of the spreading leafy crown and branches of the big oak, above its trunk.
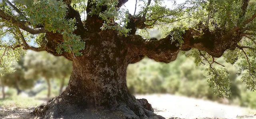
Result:
{"label": "spreading leafy crown and branches of the big oak, above its trunk", "polygon": [[[218,95],[229,95],[230,81],[216,58],[241,67],[248,88],[256,88],[256,1],[186,0],[164,4],[165,0],[136,0],[134,13],[122,6],[128,0],[1,0],[0,48],[44,51],[69,60],[82,56],[93,45],[91,36],[112,31],[132,54],[136,63],[144,56],[170,62],[179,51],[192,52],[196,63],[208,65],[210,87]],[[135,1],[134,1],[135,2]],[[137,5],[138,4],[138,5]],[[140,5],[139,5],[140,4]],[[150,28],[162,30],[162,39],[143,39],[136,33]],[[31,40],[36,46],[31,45]],[[11,41],[11,42],[10,42]],[[98,42],[98,41],[94,41]],[[128,58],[128,57],[127,57]],[[221,64],[220,64],[221,65]]]}

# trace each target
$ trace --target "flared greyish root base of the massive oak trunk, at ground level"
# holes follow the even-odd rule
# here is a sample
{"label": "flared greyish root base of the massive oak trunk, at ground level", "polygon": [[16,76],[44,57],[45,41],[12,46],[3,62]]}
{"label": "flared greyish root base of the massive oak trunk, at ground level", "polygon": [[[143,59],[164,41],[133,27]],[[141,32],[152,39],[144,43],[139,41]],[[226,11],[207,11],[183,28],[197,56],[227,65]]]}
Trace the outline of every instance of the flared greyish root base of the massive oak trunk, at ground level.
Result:
{"label": "flared greyish root base of the massive oak trunk, at ground level", "polygon": [[165,119],[153,113],[146,99],[132,98],[128,103],[118,103],[111,108],[86,109],[70,103],[60,95],[38,106],[31,114],[40,119]]}

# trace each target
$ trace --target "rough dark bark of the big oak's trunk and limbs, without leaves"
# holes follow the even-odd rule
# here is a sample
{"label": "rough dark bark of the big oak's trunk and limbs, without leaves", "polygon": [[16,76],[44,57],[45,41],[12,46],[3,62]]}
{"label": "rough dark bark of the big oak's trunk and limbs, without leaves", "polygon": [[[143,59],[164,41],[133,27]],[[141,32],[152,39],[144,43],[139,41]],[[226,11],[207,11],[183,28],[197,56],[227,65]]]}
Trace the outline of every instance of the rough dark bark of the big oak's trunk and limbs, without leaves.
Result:
{"label": "rough dark bark of the big oak's trunk and limbs, without leaves", "polygon": [[[94,6],[90,4],[91,1],[88,0],[87,13],[90,13]],[[119,0],[117,7],[127,1]],[[57,54],[55,48],[63,41],[59,33],[46,32],[48,42],[46,46],[40,48],[28,47],[23,40],[23,44],[27,45],[24,49],[46,50],[55,56],[62,55],[73,61],[72,75],[65,91],[46,104],[38,106],[31,113],[44,119],[164,119],[153,113],[146,99],[136,99],[128,92],[126,86],[128,64],[136,63],[144,56],[168,63],[176,59],[180,50],[188,51],[191,48],[204,50],[212,57],[220,57],[225,50],[234,50],[243,36],[240,32],[242,28],[238,26],[229,31],[203,29],[203,33],[193,28],[186,28],[182,46],[176,46],[178,41],[172,42],[171,36],[161,40],[145,41],[141,36],[134,35],[137,28],[150,27],[144,24],[146,19],[141,16],[129,16],[130,23],[127,28],[131,28],[132,32],[128,37],[118,36],[117,31],[101,30],[104,21],[97,15],[88,14],[86,21],[82,22],[79,13],[70,6],[71,0],[63,0],[63,2],[68,5],[66,18],[76,18],[77,29],[74,34],[80,35],[86,42],[82,56],[74,57],[73,54],[66,52]],[[103,6],[101,9],[103,12],[106,7]],[[1,10],[0,16],[5,20],[14,19]],[[255,17],[256,13],[244,24],[248,24]],[[45,32],[43,28],[31,29],[15,19],[12,22],[30,33]]]}

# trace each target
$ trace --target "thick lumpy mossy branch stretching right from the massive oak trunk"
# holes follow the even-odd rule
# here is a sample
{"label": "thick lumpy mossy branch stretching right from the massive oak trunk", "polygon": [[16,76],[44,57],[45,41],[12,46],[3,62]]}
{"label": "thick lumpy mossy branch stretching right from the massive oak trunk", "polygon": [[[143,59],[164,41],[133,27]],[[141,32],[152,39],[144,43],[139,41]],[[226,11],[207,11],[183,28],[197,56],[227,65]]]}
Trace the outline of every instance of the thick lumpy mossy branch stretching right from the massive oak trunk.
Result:
{"label": "thick lumpy mossy branch stretching right from the massive oak trunk", "polygon": [[191,48],[206,51],[210,56],[219,58],[227,49],[232,48],[241,40],[240,37],[234,37],[225,31],[200,33],[192,28],[185,31],[184,43],[180,46],[177,46],[178,40],[174,38],[172,41],[171,38],[172,36],[168,35],[160,40],[152,38],[145,41],[141,36],[130,35],[126,38],[126,44],[127,47],[134,49],[134,54],[148,56],[155,61],[167,63],[175,60],[180,50],[188,51]]}

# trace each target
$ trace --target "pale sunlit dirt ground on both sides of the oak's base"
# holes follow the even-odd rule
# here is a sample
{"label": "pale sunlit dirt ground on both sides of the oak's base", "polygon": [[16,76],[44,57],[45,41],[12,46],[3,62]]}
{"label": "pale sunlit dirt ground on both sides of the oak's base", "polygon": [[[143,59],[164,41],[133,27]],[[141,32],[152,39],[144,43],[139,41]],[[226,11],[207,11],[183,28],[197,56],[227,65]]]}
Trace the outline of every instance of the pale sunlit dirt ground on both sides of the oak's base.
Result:
{"label": "pale sunlit dirt ground on both sides of the oak's base", "polygon": [[[136,95],[136,98],[147,99],[154,112],[166,119],[256,119],[256,110],[202,99],[169,94]],[[34,108],[0,107],[0,119],[24,119]],[[246,118],[249,115],[253,117]]]}

